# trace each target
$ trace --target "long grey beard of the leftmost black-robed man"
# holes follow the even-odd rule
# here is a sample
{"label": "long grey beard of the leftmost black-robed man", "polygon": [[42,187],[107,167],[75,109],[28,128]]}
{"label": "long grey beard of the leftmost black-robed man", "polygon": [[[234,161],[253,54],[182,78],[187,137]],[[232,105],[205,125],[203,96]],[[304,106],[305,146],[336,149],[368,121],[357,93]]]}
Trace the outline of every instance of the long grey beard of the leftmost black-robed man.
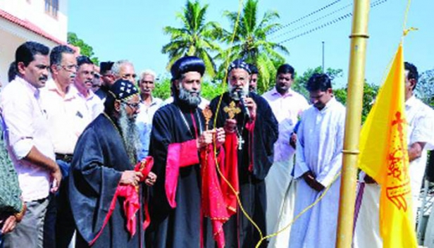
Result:
{"label": "long grey beard of the leftmost black-robed man", "polygon": [[135,118],[128,118],[126,107],[126,104],[120,104],[118,125],[130,163],[132,166],[135,166],[137,163],[137,151],[140,151],[142,144],[140,143],[137,125],[135,125]]}

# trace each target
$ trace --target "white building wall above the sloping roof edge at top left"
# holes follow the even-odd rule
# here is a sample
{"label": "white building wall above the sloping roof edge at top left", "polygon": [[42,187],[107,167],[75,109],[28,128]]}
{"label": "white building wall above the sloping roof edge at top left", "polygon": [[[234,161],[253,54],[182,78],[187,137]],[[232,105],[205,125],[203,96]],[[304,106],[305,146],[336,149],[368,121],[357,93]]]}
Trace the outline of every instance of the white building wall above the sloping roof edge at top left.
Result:
{"label": "white building wall above the sloping roof edge at top left", "polygon": [[68,0],[58,0],[57,17],[45,12],[44,0],[0,0],[0,9],[37,25],[49,35],[66,42]]}

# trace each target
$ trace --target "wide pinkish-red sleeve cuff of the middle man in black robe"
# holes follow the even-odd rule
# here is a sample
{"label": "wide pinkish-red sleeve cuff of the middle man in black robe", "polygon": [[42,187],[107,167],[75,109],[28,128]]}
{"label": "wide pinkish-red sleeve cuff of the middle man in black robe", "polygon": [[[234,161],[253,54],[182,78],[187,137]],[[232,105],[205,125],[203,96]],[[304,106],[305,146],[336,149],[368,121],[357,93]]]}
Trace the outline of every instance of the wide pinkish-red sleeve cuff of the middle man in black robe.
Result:
{"label": "wide pinkish-red sleeve cuff of the middle man in black robe", "polygon": [[199,154],[197,154],[196,140],[169,144],[164,187],[168,203],[173,209],[176,207],[175,197],[180,167],[192,166],[197,163],[199,163]]}

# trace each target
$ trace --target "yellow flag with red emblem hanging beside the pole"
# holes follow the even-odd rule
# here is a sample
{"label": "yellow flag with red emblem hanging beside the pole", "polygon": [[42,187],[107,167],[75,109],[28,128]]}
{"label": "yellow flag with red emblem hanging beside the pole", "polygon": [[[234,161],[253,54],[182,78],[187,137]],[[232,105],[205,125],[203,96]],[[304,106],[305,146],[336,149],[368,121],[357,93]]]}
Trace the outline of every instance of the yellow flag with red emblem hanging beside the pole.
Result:
{"label": "yellow flag with red emblem hanging beside the pole", "polygon": [[411,211],[402,43],[361,129],[359,149],[359,168],[381,185],[383,247],[417,247]]}

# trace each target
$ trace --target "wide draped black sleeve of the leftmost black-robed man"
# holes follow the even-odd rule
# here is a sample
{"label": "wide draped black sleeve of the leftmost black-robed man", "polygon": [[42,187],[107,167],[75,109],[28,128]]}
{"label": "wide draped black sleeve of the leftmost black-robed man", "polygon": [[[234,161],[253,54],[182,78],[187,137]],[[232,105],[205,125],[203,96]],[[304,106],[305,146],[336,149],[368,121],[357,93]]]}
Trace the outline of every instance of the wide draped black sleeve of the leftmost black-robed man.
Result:
{"label": "wide draped black sleeve of the leftmost black-robed man", "polygon": [[106,139],[98,136],[94,128],[83,132],[70,168],[70,206],[77,230],[87,242],[101,230],[122,175],[112,168],[112,164],[104,161],[104,155],[116,146],[103,148]]}

